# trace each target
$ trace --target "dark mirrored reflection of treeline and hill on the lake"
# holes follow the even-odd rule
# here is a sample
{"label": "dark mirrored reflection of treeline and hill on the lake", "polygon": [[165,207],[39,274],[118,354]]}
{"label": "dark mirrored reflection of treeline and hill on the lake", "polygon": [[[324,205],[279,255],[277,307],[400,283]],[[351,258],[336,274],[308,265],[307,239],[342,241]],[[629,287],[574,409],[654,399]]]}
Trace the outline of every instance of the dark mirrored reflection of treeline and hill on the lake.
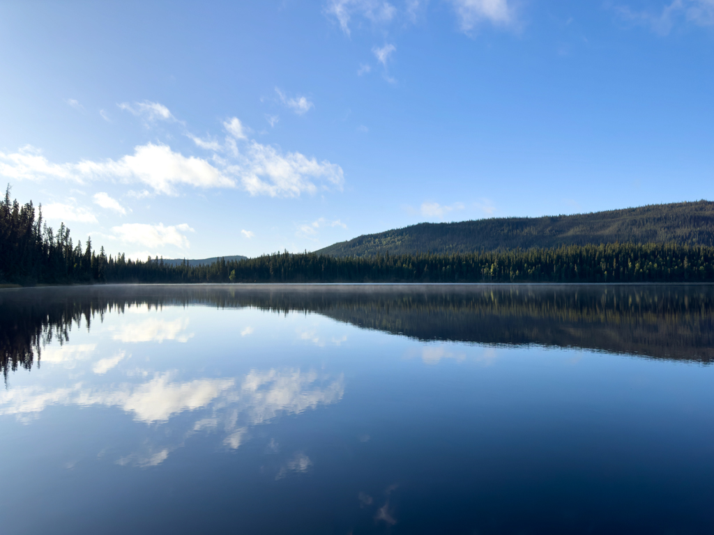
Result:
{"label": "dark mirrored reflection of treeline and hill on the lake", "polygon": [[544,345],[711,362],[714,286],[118,285],[0,290],[7,376],[126,307],[309,312],[418,340]]}

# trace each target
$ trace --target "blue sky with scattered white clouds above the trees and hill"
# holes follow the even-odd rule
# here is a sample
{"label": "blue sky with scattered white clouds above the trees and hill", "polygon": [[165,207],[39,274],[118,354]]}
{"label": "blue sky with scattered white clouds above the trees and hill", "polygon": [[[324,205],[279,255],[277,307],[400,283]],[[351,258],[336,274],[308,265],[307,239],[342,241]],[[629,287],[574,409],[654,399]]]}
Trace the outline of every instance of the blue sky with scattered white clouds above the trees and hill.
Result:
{"label": "blue sky with scattered white clouds above the trees and hill", "polygon": [[714,197],[714,0],[0,5],[0,175],[110,253]]}

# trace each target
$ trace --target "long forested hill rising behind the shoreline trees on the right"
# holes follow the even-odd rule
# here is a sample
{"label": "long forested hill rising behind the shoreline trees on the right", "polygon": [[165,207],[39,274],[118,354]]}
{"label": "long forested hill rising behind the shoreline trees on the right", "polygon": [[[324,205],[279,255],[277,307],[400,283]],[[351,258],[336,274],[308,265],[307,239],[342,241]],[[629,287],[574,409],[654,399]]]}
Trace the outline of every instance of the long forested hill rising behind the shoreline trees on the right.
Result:
{"label": "long forested hill rising behind the shoreline trees on the right", "polygon": [[316,251],[332,256],[377,253],[474,253],[601,243],[714,245],[714,203],[672,203],[543,218],[420,223],[362,235]]}

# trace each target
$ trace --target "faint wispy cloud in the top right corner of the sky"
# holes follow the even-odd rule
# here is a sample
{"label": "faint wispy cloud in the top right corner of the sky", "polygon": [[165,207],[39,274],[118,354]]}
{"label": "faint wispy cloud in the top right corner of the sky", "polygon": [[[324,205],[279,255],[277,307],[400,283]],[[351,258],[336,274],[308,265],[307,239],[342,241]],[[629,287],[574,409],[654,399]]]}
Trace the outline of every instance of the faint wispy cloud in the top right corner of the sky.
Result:
{"label": "faint wispy cloud in the top right corner of the sky", "polygon": [[673,0],[659,13],[633,10],[629,6],[615,6],[615,11],[623,19],[650,26],[655,34],[663,36],[680,20],[698,26],[714,25],[714,0]]}

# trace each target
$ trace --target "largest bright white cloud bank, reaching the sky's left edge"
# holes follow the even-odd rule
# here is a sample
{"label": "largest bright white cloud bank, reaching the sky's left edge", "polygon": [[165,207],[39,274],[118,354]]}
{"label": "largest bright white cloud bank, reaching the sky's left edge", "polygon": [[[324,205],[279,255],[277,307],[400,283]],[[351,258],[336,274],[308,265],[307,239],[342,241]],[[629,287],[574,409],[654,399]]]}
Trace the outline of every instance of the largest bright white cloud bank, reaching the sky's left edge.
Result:
{"label": "largest bright white cloud bank, reaching the sky's left edge", "polygon": [[[249,140],[238,118],[223,123],[229,136],[226,145],[213,141],[193,141],[204,148],[227,153],[228,158],[213,156],[211,162],[194,156],[186,158],[163,144],[136,146],[134,154],[119,160],[84,160],[79,163],[50,162],[39,149],[25,146],[16,153],[0,152],[0,175],[15,180],[112,180],[143,183],[147,190],[132,193],[138,198],[152,193],[178,195],[178,186],[196,188],[235,188],[238,183],[251,195],[296,197],[342,188],[344,177],[339,165],[318,162],[301,153],[282,153],[278,148]],[[319,183],[319,184],[318,184]]]}

